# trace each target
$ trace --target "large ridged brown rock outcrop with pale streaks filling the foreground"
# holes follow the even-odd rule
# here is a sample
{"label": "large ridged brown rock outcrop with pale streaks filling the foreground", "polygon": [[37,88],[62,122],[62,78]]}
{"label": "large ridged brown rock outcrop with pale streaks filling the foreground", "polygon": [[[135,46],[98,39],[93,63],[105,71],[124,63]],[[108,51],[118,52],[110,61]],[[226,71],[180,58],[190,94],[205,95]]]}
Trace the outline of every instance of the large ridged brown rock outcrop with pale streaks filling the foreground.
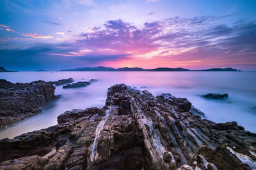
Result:
{"label": "large ridged brown rock outcrop with pale streaks filling the foreground", "polygon": [[67,111],[54,127],[1,140],[0,169],[256,168],[256,134],[190,109],[187,99],[115,85],[104,109]]}

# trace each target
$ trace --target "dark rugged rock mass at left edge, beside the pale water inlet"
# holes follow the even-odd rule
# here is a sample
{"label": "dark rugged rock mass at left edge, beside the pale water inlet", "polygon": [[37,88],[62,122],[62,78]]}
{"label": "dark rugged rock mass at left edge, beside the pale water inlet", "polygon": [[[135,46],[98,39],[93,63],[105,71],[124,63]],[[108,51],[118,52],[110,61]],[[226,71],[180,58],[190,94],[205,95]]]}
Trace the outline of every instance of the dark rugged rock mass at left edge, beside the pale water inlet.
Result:
{"label": "dark rugged rock mass at left edge, beside the pale water inlet", "polygon": [[40,112],[54,96],[55,87],[45,81],[11,83],[0,79],[0,130]]}

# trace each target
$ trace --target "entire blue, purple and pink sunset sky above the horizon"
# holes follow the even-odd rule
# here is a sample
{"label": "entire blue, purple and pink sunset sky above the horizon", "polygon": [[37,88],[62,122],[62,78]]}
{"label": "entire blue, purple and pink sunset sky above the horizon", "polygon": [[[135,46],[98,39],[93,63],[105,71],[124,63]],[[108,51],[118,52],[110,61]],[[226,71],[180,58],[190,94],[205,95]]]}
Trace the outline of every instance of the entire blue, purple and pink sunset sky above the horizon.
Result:
{"label": "entire blue, purple and pink sunset sky above the horizon", "polygon": [[256,71],[255,0],[0,0],[0,66]]}

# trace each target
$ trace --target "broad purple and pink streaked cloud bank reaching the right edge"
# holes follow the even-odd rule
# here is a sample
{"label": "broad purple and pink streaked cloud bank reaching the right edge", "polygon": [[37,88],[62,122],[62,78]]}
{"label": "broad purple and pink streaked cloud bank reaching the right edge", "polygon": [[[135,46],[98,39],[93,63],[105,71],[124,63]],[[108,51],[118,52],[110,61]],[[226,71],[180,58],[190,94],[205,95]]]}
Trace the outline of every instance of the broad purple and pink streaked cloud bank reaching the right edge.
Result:
{"label": "broad purple and pink streaked cloud bank reaching the right edge", "polygon": [[146,22],[140,28],[122,20],[110,20],[100,30],[80,34],[77,43],[93,52],[108,48],[111,53],[129,53],[127,60],[159,59],[161,64],[184,61],[184,66],[189,66],[189,60],[196,60],[191,65],[207,66],[220,64],[222,59],[226,64],[256,62],[255,22],[220,25],[219,18],[173,17]]}

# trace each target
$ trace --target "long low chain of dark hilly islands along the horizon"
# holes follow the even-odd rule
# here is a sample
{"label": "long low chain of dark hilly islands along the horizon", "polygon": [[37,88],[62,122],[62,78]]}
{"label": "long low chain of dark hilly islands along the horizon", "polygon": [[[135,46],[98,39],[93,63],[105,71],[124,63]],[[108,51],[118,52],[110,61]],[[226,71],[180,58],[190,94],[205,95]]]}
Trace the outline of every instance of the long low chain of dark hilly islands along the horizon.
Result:
{"label": "long low chain of dark hilly islands along the horizon", "polygon": [[231,67],[190,70],[190,69],[184,69],[181,67],[177,67],[177,68],[158,67],[156,69],[143,69],[140,67],[122,67],[122,68],[115,69],[113,67],[99,66],[99,67],[81,67],[81,68],[75,68],[75,69],[62,69],[60,71],[241,71],[241,70],[233,69]]}

